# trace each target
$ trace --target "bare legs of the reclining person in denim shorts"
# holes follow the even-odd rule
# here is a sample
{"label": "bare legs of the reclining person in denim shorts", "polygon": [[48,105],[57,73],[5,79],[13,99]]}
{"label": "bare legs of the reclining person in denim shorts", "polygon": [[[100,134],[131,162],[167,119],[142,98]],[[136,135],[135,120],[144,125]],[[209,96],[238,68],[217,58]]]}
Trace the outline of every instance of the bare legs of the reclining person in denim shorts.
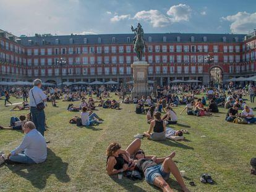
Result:
{"label": "bare legs of the reclining person in denim shorts", "polygon": [[[181,173],[179,173],[179,169],[177,168],[176,164],[173,162],[171,157],[168,157],[164,160],[163,164],[163,171],[166,173],[173,173],[173,176],[176,178],[179,185],[181,185],[181,188],[185,192],[189,192],[189,190],[186,188],[186,185],[181,177]],[[171,190],[168,183],[162,178],[162,177],[156,177],[154,180],[154,184],[161,188],[163,191],[173,191]]]}

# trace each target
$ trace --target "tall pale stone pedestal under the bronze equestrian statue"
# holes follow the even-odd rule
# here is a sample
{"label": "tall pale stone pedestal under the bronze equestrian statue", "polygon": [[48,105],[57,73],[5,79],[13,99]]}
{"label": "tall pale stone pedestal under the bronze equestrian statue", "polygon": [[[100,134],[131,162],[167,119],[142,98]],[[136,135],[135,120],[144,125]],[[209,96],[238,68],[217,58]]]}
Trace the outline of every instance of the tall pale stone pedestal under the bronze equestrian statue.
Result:
{"label": "tall pale stone pedestal under the bronze equestrian statue", "polygon": [[142,98],[149,96],[148,88],[148,63],[146,61],[135,61],[131,67],[134,69],[134,88],[132,90],[132,98]]}

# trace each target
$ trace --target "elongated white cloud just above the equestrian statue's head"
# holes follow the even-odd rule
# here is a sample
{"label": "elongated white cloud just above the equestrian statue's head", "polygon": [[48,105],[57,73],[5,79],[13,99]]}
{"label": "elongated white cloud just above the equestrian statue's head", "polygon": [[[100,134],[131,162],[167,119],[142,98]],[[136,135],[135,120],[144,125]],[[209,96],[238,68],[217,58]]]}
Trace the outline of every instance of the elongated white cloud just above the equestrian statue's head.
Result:
{"label": "elongated white cloud just above the equestrian statue's head", "polygon": [[142,10],[134,15],[134,19],[150,22],[153,27],[165,27],[171,22],[169,17],[161,14],[159,10]]}

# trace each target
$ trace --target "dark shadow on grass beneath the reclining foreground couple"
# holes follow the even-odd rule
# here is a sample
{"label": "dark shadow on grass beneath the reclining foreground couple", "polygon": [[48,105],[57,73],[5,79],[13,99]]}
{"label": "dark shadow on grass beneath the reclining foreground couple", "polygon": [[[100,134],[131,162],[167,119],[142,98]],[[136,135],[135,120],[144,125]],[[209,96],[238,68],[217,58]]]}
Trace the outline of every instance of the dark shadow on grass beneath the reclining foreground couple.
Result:
{"label": "dark shadow on grass beneath the reclining foreground couple", "polygon": [[113,182],[116,182],[118,185],[121,185],[123,188],[125,188],[127,191],[145,191],[143,188],[140,188],[137,185],[134,185],[134,183],[140,183],[143,180],[129,180],[129,178],[123,177],[122,180],[119,180],[118,178],[115,178],[115,176],[110,177]]}

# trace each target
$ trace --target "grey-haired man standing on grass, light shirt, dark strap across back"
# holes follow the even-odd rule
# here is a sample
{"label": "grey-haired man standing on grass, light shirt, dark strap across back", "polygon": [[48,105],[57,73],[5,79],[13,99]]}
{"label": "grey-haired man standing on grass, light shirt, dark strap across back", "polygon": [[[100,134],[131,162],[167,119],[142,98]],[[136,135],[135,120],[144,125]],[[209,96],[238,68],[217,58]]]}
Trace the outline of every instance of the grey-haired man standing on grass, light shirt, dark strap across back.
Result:
{"label": "grey-haired man standing on grass, light shirt, dark strap across back", "polygon": [[34,86],[29,91],[30,98],[30,112],[32,115],[32,121],[35,123],[36,130],[41,135],[45,135],[45,111],[44,109],[38,109],[38,104],[44,103],[46,106],[46,94],[41,90],[42,82],[40,79],[36,79],[33,82]]}

